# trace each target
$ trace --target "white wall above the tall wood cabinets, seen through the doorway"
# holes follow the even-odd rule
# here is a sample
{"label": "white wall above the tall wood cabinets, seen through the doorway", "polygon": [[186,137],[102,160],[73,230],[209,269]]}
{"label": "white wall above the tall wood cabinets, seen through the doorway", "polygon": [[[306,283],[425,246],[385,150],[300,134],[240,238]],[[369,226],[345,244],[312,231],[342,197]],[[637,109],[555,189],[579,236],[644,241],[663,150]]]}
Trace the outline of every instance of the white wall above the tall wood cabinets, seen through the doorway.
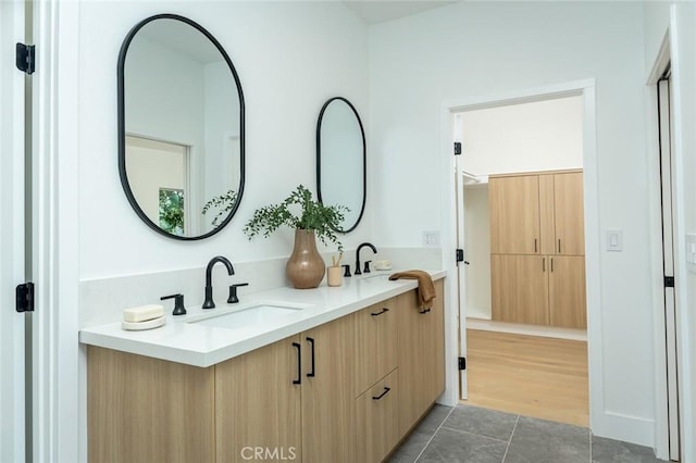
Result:
{"label": "white wall above the tall wood cabinets, seen through the doorway", "polygon": [[461,113],[464,170],[475,175],[582,168],[582,97]]}

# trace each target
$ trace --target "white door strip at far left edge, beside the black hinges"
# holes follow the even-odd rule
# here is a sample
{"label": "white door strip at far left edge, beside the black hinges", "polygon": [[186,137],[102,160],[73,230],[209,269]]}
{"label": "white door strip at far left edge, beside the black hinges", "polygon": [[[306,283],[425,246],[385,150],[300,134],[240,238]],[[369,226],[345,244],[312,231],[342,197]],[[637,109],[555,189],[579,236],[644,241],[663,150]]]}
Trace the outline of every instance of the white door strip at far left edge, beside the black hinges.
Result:
{"label": "white door strip at far left edge, beside the black hinges", "polygon": [[24,0],[1,2],[0,42],[0,462],[25,460],[25,314],[14,288],[25,281],[24,73],[14,43],[25,42]]}

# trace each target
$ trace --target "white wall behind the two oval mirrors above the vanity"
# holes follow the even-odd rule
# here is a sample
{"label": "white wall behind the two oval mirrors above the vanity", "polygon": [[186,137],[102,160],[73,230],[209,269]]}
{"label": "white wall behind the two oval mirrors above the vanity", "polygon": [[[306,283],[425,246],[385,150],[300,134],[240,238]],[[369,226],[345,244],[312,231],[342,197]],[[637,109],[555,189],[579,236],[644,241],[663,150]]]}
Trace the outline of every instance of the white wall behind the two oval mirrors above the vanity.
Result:
{"label": "white wall behind the two oval mirrors above the vanity", "polygon": [[[339,2],[83,1],[79,9],[79,178],[73,182],[79,183],[80,279],[201,266],[216,254],[233,263],[289,255],[290,230],[249,242],[241,228],[257,208],[281,201],[298,184],[314,189],[316,117],[328,98],[348,98],[369,124],[366,25]],[[135,24],[162,12],[188,16],[217,38],[247,104],[241,205],[224,230],[203,241],[150,230],[119,180],[119,50]],[[373,240],[370,230],[366,213],[344,245]]]}

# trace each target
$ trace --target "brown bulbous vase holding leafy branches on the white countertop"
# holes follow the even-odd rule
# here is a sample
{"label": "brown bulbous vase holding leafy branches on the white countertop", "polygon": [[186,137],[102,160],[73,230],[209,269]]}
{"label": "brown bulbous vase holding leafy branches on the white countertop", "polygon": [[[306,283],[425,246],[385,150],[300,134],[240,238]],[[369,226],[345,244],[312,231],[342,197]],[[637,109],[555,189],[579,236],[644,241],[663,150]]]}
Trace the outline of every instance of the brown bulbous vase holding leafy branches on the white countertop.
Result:
{"label": "brown bulbous vase holding leafy branches on the white countertop", "polygon": [[297,289],[316,288],[324,277],[326,264],[316,250],[314,230],[295,230],[295,249],[285,265],[285,273]]}

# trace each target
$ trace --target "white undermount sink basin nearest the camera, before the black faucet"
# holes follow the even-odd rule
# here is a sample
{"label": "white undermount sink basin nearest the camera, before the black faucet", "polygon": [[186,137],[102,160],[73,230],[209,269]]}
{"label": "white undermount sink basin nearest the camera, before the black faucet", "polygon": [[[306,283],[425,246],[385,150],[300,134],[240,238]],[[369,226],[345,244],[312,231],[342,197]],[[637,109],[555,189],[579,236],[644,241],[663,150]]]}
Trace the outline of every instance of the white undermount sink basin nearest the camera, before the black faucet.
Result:
{"label": "white undermount sink basin nearest the camera, before the black faucet", "polygon": [[307,309],[307,306],[273,302],[259,303],[234,312],[204,315],[204,317],[191,320],[188,323],[227,329],[238,329],[253,325],[275,325],[303,309]]}

